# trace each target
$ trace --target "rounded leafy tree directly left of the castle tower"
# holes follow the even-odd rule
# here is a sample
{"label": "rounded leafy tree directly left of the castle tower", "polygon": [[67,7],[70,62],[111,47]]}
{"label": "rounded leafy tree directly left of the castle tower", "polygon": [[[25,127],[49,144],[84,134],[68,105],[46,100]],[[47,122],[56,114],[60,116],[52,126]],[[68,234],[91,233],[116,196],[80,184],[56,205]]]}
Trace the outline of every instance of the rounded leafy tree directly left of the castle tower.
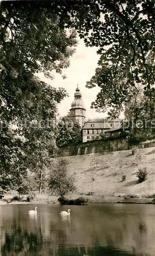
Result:
{"label": "rounded leafy tree directly left of the castle tower", "polygon": [[70,115],[64,116],[58,121],[57,146],[68,146],[82,141],[81,126]]}

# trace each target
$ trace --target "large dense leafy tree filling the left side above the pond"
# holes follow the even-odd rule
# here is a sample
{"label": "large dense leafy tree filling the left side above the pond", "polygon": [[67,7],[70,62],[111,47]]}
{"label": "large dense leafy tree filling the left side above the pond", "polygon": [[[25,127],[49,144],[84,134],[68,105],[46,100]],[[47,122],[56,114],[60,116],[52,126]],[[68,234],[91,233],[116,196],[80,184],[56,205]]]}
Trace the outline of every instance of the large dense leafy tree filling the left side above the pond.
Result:
{"label": "large dense leafy tree filling the left side above the pond", "polygon": [[54,155],[56,105],[67,93],[35,75],[62,73],[75,45],[75,31],[61,28],[51,10],[1,3],[1,185],[19,185],[16,174],[26,178],[28,167],[46,165]]}

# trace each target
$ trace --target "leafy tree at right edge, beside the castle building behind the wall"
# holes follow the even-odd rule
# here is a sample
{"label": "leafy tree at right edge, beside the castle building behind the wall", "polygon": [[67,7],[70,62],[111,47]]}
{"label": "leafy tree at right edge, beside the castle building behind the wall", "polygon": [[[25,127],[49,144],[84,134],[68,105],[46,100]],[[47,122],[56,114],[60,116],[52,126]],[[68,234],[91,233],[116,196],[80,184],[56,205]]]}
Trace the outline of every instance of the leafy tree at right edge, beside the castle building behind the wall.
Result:
{"label": "leafy tree at right edge, beside the castle building behind the wall", "polygon": [[130,144],[138,144],[140,141],[155,138],[155,91],[152,91],[152,114],[148,113],[147,97],[141,89],[135,90],[135,94],[125,104],[125,121],[123,123],[126,137]]}

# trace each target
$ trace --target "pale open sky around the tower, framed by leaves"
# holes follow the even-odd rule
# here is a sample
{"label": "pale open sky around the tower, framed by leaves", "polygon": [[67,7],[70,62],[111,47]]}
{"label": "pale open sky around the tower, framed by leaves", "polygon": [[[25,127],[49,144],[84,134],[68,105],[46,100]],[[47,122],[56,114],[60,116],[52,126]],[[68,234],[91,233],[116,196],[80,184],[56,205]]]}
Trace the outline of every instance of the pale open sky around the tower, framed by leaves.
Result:
{"label": "pale open sky around the tower, framed by leaves", "polygon": [[63,71],[63,74],[67,75],[66,79],[63,79],[61,75],[57,73],[53,80],[39,74],[41,80],[51,84],[51,86],[55,88],[62,87],[69,93],[69,97],[64,98],[64,100],[58,104],[60,116],[67,115],[71,109],[71,103],[74,100],[77,84],[82,93],[82,100],[86,109],[86,120],[106,116],[105,113],[97,113],[94,109],[90,108],[91,102],[96,99],[96,95],[100,91],[99,87],[92,89],[85,87],[86,81],[91,79],[97,68],[99,55],[97,55],[96,51],[96,47],[85,47],[83,40],[78,38],[76,53],[70,58],[70,67]]}

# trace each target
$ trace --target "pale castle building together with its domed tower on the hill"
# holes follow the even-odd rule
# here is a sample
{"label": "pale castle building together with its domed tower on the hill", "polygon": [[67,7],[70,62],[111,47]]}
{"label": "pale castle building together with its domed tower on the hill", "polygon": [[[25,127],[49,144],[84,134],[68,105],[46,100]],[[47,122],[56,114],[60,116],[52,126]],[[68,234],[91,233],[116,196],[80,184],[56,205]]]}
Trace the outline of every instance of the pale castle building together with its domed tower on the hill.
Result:
{"label": "pale castle building together with its domed tower on the hill", "polygon": [[97,118],[85,120],[85,107],[82,95],[77,86],[74,100],[71,104],[70,115],[79,122],[82,129],[82,142],[101,139],[103,137],[117,136],[121,132],[119,119]]}

